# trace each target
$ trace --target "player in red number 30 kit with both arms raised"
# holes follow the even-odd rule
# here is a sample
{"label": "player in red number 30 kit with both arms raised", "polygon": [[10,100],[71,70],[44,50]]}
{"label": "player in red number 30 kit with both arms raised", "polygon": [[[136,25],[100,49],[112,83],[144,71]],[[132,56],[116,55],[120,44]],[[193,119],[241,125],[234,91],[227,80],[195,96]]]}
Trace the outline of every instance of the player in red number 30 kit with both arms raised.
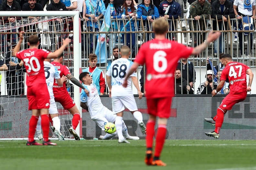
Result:
{"label": "player in red number 30 kit with both arms raised", "polygon": [[43,145],[56,145],[49,140],[49,112],[50,95],[45,80],[44,59],[58,57],[69,44],[70,39],[63,40],[63,45],[55,52],[38,49],[39,38],[37,35],[28,37],[29,49],[19,51],[23,41],[23,33],[20,32],[19,42],[14,48],[13,56],[24,61],[27,72],[26,84],[28,86],[28,109],[32,110],[29,120],[28,141],[26,145],[42,145],[34,140],[37,121],[41,114],[41,126],[43,129]]}

